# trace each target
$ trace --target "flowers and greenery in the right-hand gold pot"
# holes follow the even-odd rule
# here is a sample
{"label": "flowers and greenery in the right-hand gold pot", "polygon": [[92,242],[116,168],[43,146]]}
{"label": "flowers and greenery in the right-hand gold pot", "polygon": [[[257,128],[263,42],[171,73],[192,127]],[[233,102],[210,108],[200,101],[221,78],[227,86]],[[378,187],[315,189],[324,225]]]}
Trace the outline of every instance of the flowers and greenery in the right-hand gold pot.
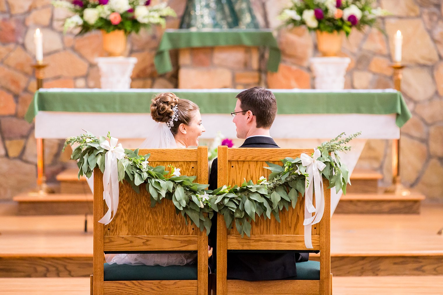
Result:
{"label": "flowers and greenery in the right-hand gold pot", "polygon": [[362,30],[373,26],[377,16],[388,14],[381,8],[374,8],[376,0],[291,0],[291,6],[284,9],[279,18],[285,25],[302,26],[310,31],[344,31],[346,36],[352,27]]}

